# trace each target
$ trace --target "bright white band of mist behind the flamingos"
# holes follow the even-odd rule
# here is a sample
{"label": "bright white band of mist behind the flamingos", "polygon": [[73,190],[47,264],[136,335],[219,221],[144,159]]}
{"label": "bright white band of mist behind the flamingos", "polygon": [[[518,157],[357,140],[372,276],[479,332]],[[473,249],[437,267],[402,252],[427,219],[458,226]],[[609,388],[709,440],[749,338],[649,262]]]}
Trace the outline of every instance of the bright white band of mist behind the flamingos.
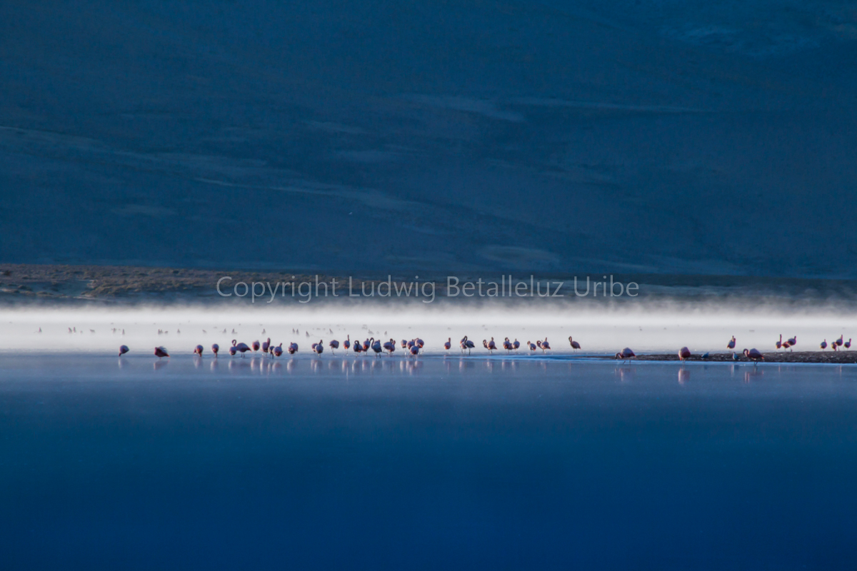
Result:
{"label": "bright white band of mist behind the flamingos", "polygon": [[[425,351],[437,354],[444,352],[448,338],[457,353],[458,341],[466,335],[476,342],[476,354],[487,354],[482,339],[494,337],[501,346],[505,337],[522,344],[547,337],[552,352],[566,353],[572,350],[567,341],[572,336],[583,353],[612,354],[624,347],[672,353],[682,346],[702,353],[726,351],[731,336],[737,337],[739,352],[773,350],[782,334],[784,339],[797,336],[796,349],[806,351],[818,348],[823,339],[853,336],[855,318],[857,310],[850,304],[795,307],[776,299],[40,306],[0,310],[0,343],[7,352],[112,352],[125,344],[137,354],[152,353],[156,345],[190,354],[197,344],[209,352],[212,343],[225,352],[232,339],[249,344],[270,337],[274,345],[297,342],[309,352],[314,342],[323,340],[329,351],[327,342],[342,342],[346,336],[352,341],[393,338],[397,348],[402,339],[420,337]],[[530,352],[522,348],[518,353]]]}

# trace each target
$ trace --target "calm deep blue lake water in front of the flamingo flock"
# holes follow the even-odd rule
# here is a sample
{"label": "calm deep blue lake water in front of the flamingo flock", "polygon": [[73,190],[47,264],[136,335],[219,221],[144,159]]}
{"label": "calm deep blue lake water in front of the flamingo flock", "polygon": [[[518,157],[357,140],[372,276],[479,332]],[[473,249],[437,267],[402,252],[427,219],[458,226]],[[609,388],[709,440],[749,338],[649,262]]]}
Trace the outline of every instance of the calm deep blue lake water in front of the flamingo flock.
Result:
{"label": "calm deep blue lake water in front of the flamingo flock", "polygon": [[857,561],[853,367],[0,363],[3,569]]}

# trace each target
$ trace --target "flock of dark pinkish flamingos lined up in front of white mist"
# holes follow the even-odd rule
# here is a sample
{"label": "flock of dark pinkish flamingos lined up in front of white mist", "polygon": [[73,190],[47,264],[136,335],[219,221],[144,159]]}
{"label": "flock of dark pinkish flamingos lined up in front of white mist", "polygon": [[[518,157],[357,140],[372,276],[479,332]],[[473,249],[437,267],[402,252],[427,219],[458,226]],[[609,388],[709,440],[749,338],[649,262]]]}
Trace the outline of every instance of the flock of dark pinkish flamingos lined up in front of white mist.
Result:
{"label": "flock of dark pinkish flamingos lined up in front of white mist", "polygon": [[[233,330],[233,332],[234,332],[234,330]],[[264,333],[264,331],[263,331],[263,333]],[[839,336],[838,339],[836,339],[833,342],[830,342],[830,348],[832,348],[834,351],[840,350],[840,348],[850,349],[851,348],[851,339],[849,338],[848,341],[844,341],[843,337],[844,336]],[[795,345],[797,345],[797,342],[798,342],[797,336],[793,336],[790,339],[787,339],[786,341],[782,341],[782,335],[781,335],[779,340],[775,343],[775,347],[777,349],[793,350],[792,348]],[[572,350],[574,350],[574,351],[577,351],[580,348],[580,343],[574,341],[571,336],[568,337],[568,343],[571,346]],[[420,339],[419,337],[415,337],[414,339],[411,339],[410,341],[407,339],[402,339],[402,341],[400,342],[400,345],[401,345],[402,350],[405,352],[405,355],[417,357],[417,355],[422,353],[423,347],[425,346],[425,342],[423,342],[423,340]],[[327,346],[330,348],[331,354],[334,354],[336,349],[339,349],[339,341],[334,339],[333,341],[328,342]],[[461,341],[458,342],[458,346],[461,348],[462,353],[464,353],[464,351],[466,351],[467,354],[471,354],[471,350],[476,348],[476,343],[471,341],[470,338],[468,338],[468,336],[465,335],[464,338],[462,338]],[[369,339],[366,339],[363,342],[360,342],[360,341],[352,342],[351,336],[346,336],[345,341],[342,342],[342,347],[345,348],[346,354],[349,350],[353,350],[354,354],[356,354],[356,355],[360,355],[360,354],[366,355],[366,354],[369,354],[369,352],[371,351],[375,354],[376,357],[380,357],[382,353],[386,353],[387,355],[392,356],[393,353],[396,352],[397,343],[393,338],[391,338],[387,342],[381,342],[380,339],[375,339],[375,337],[370,337]],[[506,351],[506,354],[511,354],[512,352],[517,353],[518,349],[520,347],[521,347],[521,342],[519,342],[517,339],[515,339],[514,341],[510,341],[508,337],[506,337],[503,340],[503,342],[501,343],[501,348]],[[819,347],[824,351],[824,349],[826,349],[828,347],[827,339],[824,339],[824,341],[821,342]],[[443,348],[446,349],[446,351],[449,351],[452,348],[452,337],[449,337],[446,339],[446,342],[443,344]],[[494,351],[500,350],[500,348],[497,347],[497,343],[494,342],[494,337],[491,337],[490,340],[482,339],[482,348],[487,349],[488,354],[494,354]],[[529,342],[529,341],[526,342],[524,345],[524,348],[529,349],[530,354],[534,354],[537,350],[541,349],[542,354],[543,354],[543,353],[550,350],[550,343],[548,342],[548,338],[545,337],[543,341],[539,340],[539,341],[536,341],[535,343]],[[729,342],[726,344],[726,348],[734,350],[734,348],[735,348],[735,337],[734,336],[732,336],[732,339],[730,339]],[[241,356],[243,357],[244,354],[248,353],[249,351],[253,351],[253,353],[255,354],[260,349],[261,349],[262,354],[270,356],[271,358],[276,358],[276,357],[281,356],[284,351],[288,352],[288,354],[290,354],[290,355],[296,354],[298,347],[297,347],[296,342],[291,342],[289,344],[289,346],[285,349],[283,348],[283,343],[279,343],[279,345],[274,347],[273,343],[271,342],[270,337],[268,337],[266,341],[261,342],[261,343],[258,341],[254,341],[251,345],[248,345],[247,343],[243,343],[243,342],[238,342],[237,339],[233,339],[232,345],[229,348],[229,354],[231,356],[234,356],[234,355],[240,353]],[[205,349],[201,345],[197,345],[196,348],[194,349],[194,354],[197,354],[201,357],[204,350]],[[219,351],[220,351],[220,347],[217,343],[214,343],[212,345],[211,350],[212,350],[212,353],[214,354],[214,356],[217,357],[219,354]],[[312,347],[311,347],[311,351],[317,357],[321,357],[321,354],[323,354],[325,351],[324,340],[320,339],[319,342],[313,343]],[[129,352],[129,348],[127,345],[122,345],[119,348],[119,356],[120,357],[123,354],[126,354],[128,352]],[[159,358],[170,356],[169,352],[164,347],[156,347],[154,354],[155,354],[155,356],[157,356]],[[762,354],[762,352],[756,348],[744,349],[742,354],[744,355],[744,357],[746,357],[746,359],[752,360],[754,363],[758,362],[760,360],[764,360],[764,354]],[[682,362],[690,359],[692,356],[690,349],[688,349],[686,347],[680,348],[678,355],[679,355],[679,360]],[[619,353],[615,354],[615,359],[616,360],[622,360],[622,361],[632,360],[632,359],[635,359],[636,357],[637,357],[637,354],[635,354],[631,348],[627,348],[627,347],[622,349]],[[705,353],[702,355],[702,359],[708,359],[708,357],[709,357],[708,353]],[[736,360],[736,361],[740,360],[739,354],[733,353],[732,359]]]}

